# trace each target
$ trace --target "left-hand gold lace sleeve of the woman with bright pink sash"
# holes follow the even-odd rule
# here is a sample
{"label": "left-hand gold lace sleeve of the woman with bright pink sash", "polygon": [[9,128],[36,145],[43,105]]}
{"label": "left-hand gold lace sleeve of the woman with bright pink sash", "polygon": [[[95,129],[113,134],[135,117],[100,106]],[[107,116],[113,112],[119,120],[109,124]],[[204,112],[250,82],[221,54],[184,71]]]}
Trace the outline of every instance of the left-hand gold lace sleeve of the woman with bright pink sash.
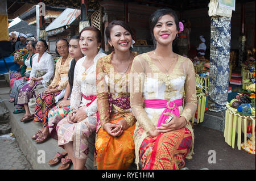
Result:
{"label": "left-hand gold lace sleeve of the woman with bright pink sash", "polygon": [[130,93],[131,110],[138,123],[144,128],[146,132],[155,129],[154,124],[147,116],[143,108],[143,86],[145,78],[145,61],[142,57],[136,56],[131,66],[131,73],[133,73],[133,90]]}

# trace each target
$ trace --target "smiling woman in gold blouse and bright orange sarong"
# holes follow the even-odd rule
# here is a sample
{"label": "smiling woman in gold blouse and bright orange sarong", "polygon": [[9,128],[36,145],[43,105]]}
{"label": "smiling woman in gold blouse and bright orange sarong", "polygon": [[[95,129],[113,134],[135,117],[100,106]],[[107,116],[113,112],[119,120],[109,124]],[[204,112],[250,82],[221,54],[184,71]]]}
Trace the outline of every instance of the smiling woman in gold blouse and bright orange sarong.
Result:
{"label": "smiling woman in gold blouse and bright orange sarong", "polygon": [[96,130],[96,161],[101,169],[128,169],[134,155],[135,117],[130,108],[128,73],[134,59],[131,28],[114,20],[106,37],[114,51],[97,62],[97,104],[100,124]]}

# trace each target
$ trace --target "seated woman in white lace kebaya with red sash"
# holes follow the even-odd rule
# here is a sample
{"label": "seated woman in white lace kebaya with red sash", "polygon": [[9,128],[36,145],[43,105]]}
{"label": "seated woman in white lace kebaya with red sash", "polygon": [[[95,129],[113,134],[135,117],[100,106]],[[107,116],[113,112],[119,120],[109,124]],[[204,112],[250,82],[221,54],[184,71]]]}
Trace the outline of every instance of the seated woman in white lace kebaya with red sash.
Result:
{"label": "seated woman in white lace kebaya with red sash", "polygon": [[79,44],[86,56],[80,58],[75,66],[71,93],[73,111],[69,112],[56,127],[58,145],[68,152],[68,157],[71,158],[76,170],[85,169],[89,154],[88,138],[96,130],[96,63],[98,58],[106,56],[100,51],[101,33],[95,27],[86,27],[81,31]]}

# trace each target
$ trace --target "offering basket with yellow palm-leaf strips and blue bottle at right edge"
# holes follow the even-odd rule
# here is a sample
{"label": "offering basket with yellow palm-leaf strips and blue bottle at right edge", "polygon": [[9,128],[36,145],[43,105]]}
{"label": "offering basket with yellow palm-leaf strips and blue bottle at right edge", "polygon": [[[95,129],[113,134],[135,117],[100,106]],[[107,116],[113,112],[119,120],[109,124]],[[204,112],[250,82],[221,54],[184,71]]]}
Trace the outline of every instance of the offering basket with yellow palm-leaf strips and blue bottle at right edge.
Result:
{"label": "offering basket with yellow palm-leaf strips and blue bottle at right edge", "polygon": [[[226,103],[226,107],[225,142],[234,148],[237,133],[237,148],[255,154],[255,83],[238,93],[236,99]],[[247,140],[248,131],[251,134]]]}

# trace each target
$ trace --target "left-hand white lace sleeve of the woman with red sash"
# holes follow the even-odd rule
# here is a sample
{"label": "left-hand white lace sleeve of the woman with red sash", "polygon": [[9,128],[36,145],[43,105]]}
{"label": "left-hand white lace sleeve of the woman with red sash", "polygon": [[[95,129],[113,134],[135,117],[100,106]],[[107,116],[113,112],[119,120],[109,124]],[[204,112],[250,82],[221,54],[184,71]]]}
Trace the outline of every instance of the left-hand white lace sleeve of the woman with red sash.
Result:
{"label": "left-hand white lace sleeve of the woman with red sash", "polygon": [[71,108],[75,108],[75,110],[79,108],[79,105],[82,100],[81,85],[77,82],[77,76],[79,75],[80,66],[81,65],[79,65],[79,62],[77,62],[74,70],[74,82],[73,82],[71,100],[70,100],[70,106]]}

